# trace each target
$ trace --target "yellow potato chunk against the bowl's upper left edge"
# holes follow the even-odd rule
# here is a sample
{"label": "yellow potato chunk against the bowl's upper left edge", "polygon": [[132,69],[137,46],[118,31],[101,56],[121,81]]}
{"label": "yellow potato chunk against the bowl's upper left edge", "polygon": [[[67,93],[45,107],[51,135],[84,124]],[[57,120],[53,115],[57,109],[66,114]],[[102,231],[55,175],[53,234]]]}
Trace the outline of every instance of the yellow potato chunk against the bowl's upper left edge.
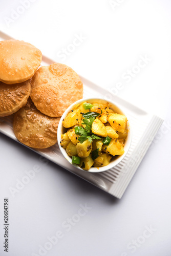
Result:
{"label": "yellow potato chunk against the bowl's upper left edge", "polygon": [[66,118],[63,120],[63,126],[66,128],[70,128],[76,124],[79,124],[81,121],[81,113],[80,110],[73,110],[68,113]]}

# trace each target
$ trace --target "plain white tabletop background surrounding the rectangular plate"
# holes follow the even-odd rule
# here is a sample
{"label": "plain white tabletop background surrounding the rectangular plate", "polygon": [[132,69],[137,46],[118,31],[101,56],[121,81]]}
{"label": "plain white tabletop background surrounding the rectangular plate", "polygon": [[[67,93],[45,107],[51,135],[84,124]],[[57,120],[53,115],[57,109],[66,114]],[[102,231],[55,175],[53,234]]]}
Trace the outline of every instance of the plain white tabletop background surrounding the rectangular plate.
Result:
{"label": "plain white tabletop background surrounding the rectangular plate", "polygon": [[[170,256],[170,0],[24,2],[1,0],[4,32],[161,116],[164,123],[120,200],[52,162],[40,161],[37,154],[0,134],[0,255]],[[76,41],[77,36],[82,39]],[[73,41],[77,46],[71,46]],[[68,55],[61,57],[63,48]],[[146,56],[148,63],[125,79],[125,72],[137,71],[140,56]],[[12,197],[10,187],[15,188],[17,179],[35,165],[40,172]],[[9,198],[8,253],[3,249],[5,197]],[[89,209],[76,219],[80,205],[86,204]],[[68,218],[78,220],[70,230],[62,226]],[[149,228],[151,233],[145,231]],[[58,230],[62,237],[49,249],[48,237]],[[48,250],[39,251],[40,245]]]}

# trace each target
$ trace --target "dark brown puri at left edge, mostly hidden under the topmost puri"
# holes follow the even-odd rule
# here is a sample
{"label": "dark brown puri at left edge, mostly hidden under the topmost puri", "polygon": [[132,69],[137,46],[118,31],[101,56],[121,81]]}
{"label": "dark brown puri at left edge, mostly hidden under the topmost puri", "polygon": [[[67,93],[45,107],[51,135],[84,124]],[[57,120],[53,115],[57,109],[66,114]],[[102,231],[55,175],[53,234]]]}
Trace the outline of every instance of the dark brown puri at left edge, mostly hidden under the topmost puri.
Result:
{"label": "dark brown puri at left edge, mostly hidden under the topmost puri", "polygon": [[0,116],[11,115],[25,106],[30,92],[30,79],[15,84],[0,81]]}

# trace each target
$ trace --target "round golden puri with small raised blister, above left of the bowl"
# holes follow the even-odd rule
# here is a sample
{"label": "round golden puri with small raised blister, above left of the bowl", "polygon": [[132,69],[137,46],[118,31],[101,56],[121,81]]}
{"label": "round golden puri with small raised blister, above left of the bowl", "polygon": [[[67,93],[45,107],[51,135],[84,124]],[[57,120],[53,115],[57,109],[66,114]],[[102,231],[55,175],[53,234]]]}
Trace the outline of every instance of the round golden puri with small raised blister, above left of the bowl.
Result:
{"label": "round golden puri with small raised blister, above left of the bowl", "polygon": [[39,68],[31,81],[32,101],[40,112],[51,117],[60,117],[82,95],[78,74],[61,63]]}

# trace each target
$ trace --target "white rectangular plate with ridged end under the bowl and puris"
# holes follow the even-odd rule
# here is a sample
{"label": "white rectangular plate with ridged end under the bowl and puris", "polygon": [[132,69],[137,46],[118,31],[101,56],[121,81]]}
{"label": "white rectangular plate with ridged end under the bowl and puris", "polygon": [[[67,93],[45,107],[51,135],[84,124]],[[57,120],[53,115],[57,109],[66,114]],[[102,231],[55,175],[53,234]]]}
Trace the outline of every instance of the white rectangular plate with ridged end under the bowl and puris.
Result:
{"label": "white rectangular plate with ridged end under the bowl and puris", "polygon": [[[12,39],[10,36],[0,32],[0,40]],[[50,65],[55,61],[43,56],[41,66]],[[127,113],[131,129],[133,132],[132,144],[125,158],[114,168],[101,173],[89,173],[80,171],[72,166],[60,153],[58,145],[54,145],[45,150],[31,150],[41,156],[48,158],[75,175],[89,181],[97,187],[105,190],[109,194],[121,198],[126,187],[129,185],[140,162],[146,154],[149,145],[152,143],[163,120],[156,116],[137,108],[131,103],[109,93],[107,90],[97,86],[84,77],[81,77],[84,87],[83,97],[102,97],[112,100]],[[0,118],[0,132],[17,141],[12,129],[12,116]]]}

